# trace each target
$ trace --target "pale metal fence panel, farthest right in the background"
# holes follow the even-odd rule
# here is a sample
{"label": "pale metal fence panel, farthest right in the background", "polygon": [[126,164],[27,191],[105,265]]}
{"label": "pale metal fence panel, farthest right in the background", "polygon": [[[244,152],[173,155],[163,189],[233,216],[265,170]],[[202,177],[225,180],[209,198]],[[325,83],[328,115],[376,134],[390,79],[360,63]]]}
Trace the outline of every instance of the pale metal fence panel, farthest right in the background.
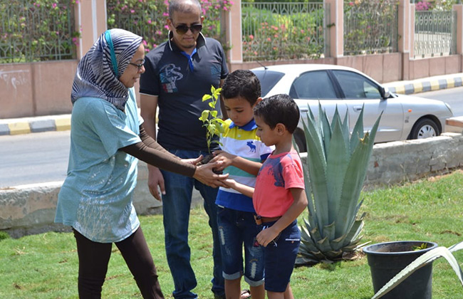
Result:
{"label": "pale metal fence panel, farthest right in the background", "polygon": [[457,11],[415,11],[414,58],[457,53]]}

